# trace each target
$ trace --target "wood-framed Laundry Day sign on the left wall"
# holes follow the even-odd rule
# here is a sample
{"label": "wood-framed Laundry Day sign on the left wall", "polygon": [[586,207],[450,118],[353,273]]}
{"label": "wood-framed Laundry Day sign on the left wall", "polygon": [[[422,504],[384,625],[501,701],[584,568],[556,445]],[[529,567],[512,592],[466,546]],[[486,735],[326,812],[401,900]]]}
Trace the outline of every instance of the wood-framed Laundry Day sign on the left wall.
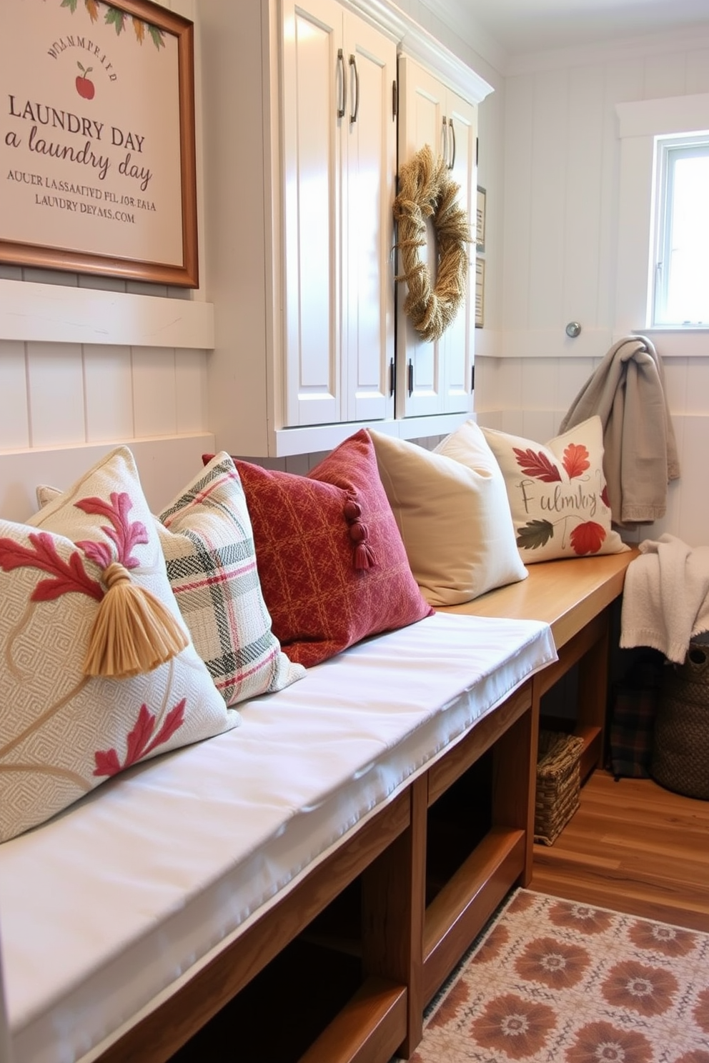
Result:
{"label": "wood-framed Laundry Day sign on the left wall", "polygon": [[149,0],[13,0],[0,261],[197,287],[193,27]]}

